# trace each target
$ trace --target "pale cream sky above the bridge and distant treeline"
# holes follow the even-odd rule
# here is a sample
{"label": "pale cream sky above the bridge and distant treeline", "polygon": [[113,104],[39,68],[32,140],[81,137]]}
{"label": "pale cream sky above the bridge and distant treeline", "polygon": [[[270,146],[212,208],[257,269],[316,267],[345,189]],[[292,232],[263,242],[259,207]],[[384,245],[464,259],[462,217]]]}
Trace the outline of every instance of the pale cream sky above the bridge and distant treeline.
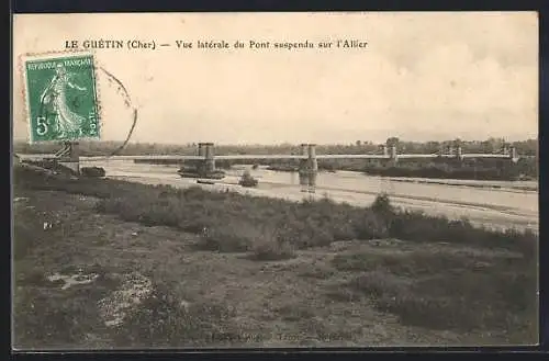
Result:
{"label": "pale cream sky above the bridge and distant treeline", "polygon": [[[87,40],[124,43],[93,54],[137,109],[132,142],[520,140],[538,134],[535,12],[103,13],[14,15],[14,139],[29,133],[23,56],[64,52],[66,41],[81,48]],[[156,48],[130,49],[128,40],[154,41]],[[231,48],[195,47],[210,40]],[[237,40],[244,48],[232,47]],[[368,45],[272,48],[305,40]],[[178,48],[176,41],[194,47]],[[249,41],[269,41],[271,48],[249,48]],[[123,140],[131,111],[103,72],[97,82],[102,139]]]}

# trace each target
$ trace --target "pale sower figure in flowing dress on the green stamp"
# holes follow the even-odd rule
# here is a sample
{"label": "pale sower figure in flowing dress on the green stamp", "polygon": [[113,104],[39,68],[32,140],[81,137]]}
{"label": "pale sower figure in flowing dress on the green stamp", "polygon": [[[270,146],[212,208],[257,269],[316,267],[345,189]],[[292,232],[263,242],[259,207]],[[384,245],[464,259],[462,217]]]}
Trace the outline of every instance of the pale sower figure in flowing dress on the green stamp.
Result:
{"label": "pale sower figure in flowing dress on the green stamp", "polygon": [[74,84],[69,78],[70,74],[67,72],[65,67],[61,64],[57,65],[55,76],[41,97],[41,103],[45,106],[51,106],[55,113],[59,137],[78,132],[82,122],[86,121],[83,116],[69,109],[66,87],[80,91],[85,91],[86,88]]}

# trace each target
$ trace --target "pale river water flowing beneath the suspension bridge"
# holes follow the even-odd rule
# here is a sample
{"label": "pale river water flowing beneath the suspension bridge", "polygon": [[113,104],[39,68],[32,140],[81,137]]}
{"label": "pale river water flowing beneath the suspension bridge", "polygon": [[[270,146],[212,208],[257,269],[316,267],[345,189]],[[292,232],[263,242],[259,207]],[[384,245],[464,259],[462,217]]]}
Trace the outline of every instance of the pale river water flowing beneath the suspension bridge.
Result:
{"label": "pale river water flowing beneath the suspension bridge", "polygon": [[[128,160],[81,161],[81,167],[103,167],[109,178],[178,188],[197,185],[195,179],[180,178],[176,173],[177,166],[134,163]],[[245,169],[258,179],[256,189],[237,184]],[[439,184],[440,182],[451,184]],[[371,204],[377,194],[385,192],[394,205],[427,214],[442,214],[449,218],[467,217],[475,224],[497,228],[537,230],[539,227],[537,182],[390,179],[338,171],[320,172],[316,183],[314,193],[309,193],[300,185],[298,173],[270,171],[265,167],[253,170],[249,166],[237,166],[227,171],[225,179],[215,181],[215,184],[199,185],[292,201],[301,201],[305,196],[328,196],[336,202],[359,206]]]}

